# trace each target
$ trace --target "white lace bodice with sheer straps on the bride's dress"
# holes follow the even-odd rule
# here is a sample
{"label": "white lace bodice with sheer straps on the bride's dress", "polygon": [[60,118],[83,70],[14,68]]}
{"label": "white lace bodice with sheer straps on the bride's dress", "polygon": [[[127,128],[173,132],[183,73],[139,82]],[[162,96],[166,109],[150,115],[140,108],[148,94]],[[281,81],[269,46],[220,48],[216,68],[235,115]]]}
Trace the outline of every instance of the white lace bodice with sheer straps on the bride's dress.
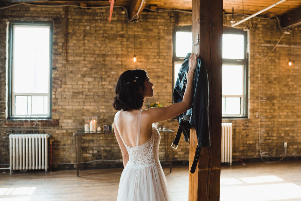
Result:
{"label": "white lace bodice with sheer straps on the bride's dress", "polygon": [[124,146],[127,148],[127,152],[129,154],[129,160],[126,166],[129,166],[129,168],[133,169],[144,169],[160,162],[158,154],[161,137],[155,124],[152,124],[151,138],[148,139],[144,144],[138,145],[140,136],[141,112],[142,110],[138,114],[138,133],[136,138],[136,146],[127,146],[124,143],[122,136],[120,135],[120,138],[123,141]]}

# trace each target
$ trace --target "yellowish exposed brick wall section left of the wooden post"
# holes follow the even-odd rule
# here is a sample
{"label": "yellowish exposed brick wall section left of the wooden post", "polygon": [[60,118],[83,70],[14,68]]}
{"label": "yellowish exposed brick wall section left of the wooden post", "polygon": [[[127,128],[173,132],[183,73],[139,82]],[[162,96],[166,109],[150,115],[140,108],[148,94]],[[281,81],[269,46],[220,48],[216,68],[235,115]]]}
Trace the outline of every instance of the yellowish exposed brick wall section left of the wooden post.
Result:
{"label": "yellowish exposed brick wall section left of the wooden post", "polygon": [[[108,22],[108,9],[68,8],[68,43],[65,44],[65,8],[40,8],[16,6],[4,10],[0,22],[1,35],[6,39],[6,22],[12,19],[50,20],[53,26],[53,100],[52,116],[55,123],[5,119],[5,55],[1,72],[1,148],[0,164],[9,163],[5,150],[12,127],[22,132],[33,128],[52,128],[53,163],[74,163],[75,145],[73,133],[83,128],[85,116],[98,116],[98,122],[111,124],[115,110],[111,105],[118,76],[127,69],[141,68],[148,72],[154,83],[154,97],[147,102],[160,101],[168,105],[172,101],[172,26],[173,13],[143,13],[139,23],[130,24],[121,9],[114,9],[112,22]],[[23,17],[24,16],[24,17]],[[134,55],[134,27],[136,26]],[[67,47],[67,48],[65,48]],[[67,53],[67,54],[66,54]],[[144,106],[146,108],[146,106]],[[176,120],[160,123],[177,129]],[[114,134],[98,137],[87,136],[83,140],[83,159],[121,159]],[[160,158],[164,158],[162,137]],[[188,159],[188,143],[174,152],[174,158]],[[185,146],[184,146],[185,145]],[[186,150],[183,150],[183,148]]]}

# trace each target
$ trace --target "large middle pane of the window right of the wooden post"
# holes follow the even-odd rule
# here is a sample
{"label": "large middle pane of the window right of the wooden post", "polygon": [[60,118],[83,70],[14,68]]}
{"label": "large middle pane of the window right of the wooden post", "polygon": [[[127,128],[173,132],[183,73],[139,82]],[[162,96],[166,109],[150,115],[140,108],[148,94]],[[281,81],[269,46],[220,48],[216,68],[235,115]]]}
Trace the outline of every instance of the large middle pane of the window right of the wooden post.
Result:
{"label": "large middle pane of the window right of the wooden post", "polygon": [[223,95],[243,95],[244,65],[223,65]]}

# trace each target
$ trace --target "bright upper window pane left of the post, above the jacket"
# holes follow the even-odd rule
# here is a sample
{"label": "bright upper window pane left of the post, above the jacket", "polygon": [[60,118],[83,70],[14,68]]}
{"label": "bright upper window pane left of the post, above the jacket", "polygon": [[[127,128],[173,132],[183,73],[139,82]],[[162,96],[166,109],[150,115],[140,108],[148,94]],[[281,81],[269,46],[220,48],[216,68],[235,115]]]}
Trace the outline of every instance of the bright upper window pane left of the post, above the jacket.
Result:
{"label": "bright upper window pane left of the post, above the jacket", "polygon": [[192,35],[191,32],[176,33],[176,56],[186,57],[186,54],[192,49]]}

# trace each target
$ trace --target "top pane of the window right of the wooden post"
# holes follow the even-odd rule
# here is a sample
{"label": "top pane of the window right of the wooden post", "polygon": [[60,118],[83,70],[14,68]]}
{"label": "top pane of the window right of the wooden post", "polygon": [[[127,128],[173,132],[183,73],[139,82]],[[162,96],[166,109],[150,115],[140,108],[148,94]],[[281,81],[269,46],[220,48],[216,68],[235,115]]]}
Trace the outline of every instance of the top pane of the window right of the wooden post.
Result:
{"label": "top pane of the window right of the wooden post", "polygon": [[223,34],[223,58],[244,59],[244,35]]}

